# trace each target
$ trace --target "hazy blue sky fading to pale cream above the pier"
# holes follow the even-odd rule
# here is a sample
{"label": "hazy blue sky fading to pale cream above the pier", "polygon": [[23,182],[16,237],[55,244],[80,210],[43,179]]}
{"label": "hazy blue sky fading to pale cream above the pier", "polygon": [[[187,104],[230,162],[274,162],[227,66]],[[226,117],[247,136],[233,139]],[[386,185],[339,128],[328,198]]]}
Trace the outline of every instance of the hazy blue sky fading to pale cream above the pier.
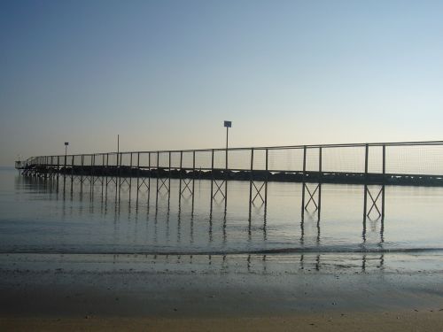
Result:
{"label": "hazy blue sky fading to pale cream above the pier", "polygon": [[[0,1],[0,165],[443,139],[443,1]],[[23,158],[22,157],[22,158]]]}

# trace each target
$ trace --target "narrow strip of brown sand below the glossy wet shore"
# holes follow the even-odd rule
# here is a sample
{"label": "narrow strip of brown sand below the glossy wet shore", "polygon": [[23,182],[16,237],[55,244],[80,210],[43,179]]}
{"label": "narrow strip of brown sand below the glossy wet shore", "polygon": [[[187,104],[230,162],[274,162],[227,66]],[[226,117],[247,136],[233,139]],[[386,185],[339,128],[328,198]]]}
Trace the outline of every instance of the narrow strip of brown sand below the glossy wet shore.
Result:
{"label": "narrow strip of brown sand below the glossy wet shore", "polygon": [[443,313],[311,314],[225,319],[0,319],[13,331],[441,331]]}

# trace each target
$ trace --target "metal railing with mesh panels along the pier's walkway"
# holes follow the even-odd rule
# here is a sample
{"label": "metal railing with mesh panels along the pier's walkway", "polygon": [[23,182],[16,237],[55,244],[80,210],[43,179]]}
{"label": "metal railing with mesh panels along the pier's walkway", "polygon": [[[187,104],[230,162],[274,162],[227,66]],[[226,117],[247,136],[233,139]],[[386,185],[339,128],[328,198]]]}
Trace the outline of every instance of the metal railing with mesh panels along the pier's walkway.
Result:
{"label": "metal railing with mesh panels along the pier's walkway", "polygon": [[31,157],[19,166],[439,176],[443,175],[443,141],[103,152]]}

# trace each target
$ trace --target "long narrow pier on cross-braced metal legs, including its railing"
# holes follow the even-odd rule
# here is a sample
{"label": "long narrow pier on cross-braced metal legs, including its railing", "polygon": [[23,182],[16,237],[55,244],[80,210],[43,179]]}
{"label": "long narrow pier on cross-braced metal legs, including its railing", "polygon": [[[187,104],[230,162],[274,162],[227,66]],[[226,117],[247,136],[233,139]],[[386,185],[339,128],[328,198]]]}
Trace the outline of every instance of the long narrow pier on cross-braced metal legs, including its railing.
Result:
{"label": "long narrow pier on cross-braced metal legs, including its railing", "polygon": [[[179,181],[179,200],[188,196],[194,206],[195,182],[211,181],[215,199],[228,202],[229,181],[249,181],[249,213],[253,205],[268,205],[268,182],[299,183],[301,216],[322,207],[322,184],[358,184],[364,193],[363,219],[385,218],[385,186],[443,187],[443,141],[346,143],[183,151],[123,151],[38,156],[17,161],[23,176],[79,183],[81,189],[101,186],[120,191],[136,188],[170,196],[171,179]],[[149,202],[148,202],[149,204]],[[180,201],[179,201],[180,204]]]}

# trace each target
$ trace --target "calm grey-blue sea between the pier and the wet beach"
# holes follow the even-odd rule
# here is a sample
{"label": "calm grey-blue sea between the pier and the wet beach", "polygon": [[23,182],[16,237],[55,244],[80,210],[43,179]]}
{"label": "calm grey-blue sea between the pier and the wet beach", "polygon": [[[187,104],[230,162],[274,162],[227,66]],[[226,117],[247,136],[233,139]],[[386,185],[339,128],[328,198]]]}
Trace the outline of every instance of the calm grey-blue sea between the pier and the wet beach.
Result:
{"label": "calm grey-blue sea between the pier and the wet beach", "polygon": [[[134,179],[132,181],[135,181]],[[301,217],[300,183],[268,183],[249,211],[249,182],[229,181],[211,209],[211,181],[195,181],[179,205],[179,181],[156,195],[120,193],[100,181],[43,180],[0,169],[0,252],[221,253],[360,252],[443,249],[443,188],[386,187],[385,219],[363,220],[363,187],[323,184],[320,215]],[[312,187],[314,189],[314,186]],[[373,189],[377,196],[377,188]],[[157,199],[156,199],[157,197]],[[317,202],[318,203],[318,202]],[[370,205],[369,205],[370,206]],[[379,207],[379,206],[378,206]],[[374,211],[373,211],[374,212]]]}

